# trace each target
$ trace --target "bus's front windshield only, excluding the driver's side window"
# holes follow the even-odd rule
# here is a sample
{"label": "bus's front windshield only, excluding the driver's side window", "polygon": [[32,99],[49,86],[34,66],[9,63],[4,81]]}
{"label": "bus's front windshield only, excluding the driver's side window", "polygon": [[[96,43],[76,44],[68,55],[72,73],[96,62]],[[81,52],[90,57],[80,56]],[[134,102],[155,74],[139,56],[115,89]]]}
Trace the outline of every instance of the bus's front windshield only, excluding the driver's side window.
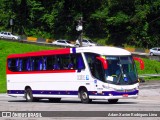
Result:
{"label": "bus's front windshield only, excluding the driver's side window", "polygon": [[138,82],[137,71],[132,56],[106,56],[108,69],[105,81],[111,84],[126,85]]}

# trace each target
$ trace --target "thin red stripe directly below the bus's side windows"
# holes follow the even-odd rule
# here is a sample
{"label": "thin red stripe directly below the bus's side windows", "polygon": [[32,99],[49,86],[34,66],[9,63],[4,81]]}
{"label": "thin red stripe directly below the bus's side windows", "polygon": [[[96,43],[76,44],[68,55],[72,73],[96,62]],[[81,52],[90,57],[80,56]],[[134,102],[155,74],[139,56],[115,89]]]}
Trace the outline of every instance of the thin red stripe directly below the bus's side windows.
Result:
{"label": "thin red stripe directly below the bus's side windows", "polygon": [[20,71],[12,72],[7,70],[7,74],[42,74],[42,73],[74,73],[76,70],[43,70],[43,71]]}

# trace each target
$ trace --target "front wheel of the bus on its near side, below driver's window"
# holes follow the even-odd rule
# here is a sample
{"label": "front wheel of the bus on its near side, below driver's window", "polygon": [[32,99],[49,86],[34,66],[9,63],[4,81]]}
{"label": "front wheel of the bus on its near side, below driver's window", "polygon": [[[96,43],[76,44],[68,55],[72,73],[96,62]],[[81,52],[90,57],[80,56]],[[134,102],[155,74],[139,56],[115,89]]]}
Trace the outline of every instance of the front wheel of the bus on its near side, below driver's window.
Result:
{"label": "front wheel of the bus on its near side, below driver's window", "polygon": [[87,90],[82,89],[80,91],[80,99],[82,103],[90,103],[92,102],[92,99],[89,99],[89,95],[87,93]]}

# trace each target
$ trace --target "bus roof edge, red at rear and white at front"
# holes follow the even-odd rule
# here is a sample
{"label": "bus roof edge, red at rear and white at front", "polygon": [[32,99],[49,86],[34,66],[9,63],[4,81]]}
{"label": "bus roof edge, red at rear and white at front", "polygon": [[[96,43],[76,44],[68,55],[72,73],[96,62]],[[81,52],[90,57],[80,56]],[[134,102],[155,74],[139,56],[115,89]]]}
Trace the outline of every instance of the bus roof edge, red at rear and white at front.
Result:
{"label": "bus roof edge, red at rear and white at front", "polygon": [[125,49],[108,46],[93,46],[93,47],[79,47],[79,48],[61,48],[56,50],[43,50],[37,52],[28,52],[22,54],[11,54],[8,58],[18,57],[32,57],[32,56],[45,56],[45,55],[58,55],[58,54],[69,54],[69,53],[81,53],[81,52],[92,52],[101,55],[131,55],[131,53]]}

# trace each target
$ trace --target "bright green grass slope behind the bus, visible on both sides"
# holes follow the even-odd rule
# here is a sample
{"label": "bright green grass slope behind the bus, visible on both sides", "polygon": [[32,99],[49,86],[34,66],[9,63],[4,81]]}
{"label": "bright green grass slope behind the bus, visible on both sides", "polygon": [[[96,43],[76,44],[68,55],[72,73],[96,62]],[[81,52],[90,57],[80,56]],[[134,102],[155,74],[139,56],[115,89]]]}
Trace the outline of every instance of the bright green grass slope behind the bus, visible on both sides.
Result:
{"label": "bright green grass slope behind the bus, visible on both sides", "polygon": [[[8,42],[0,40],[0,93],[6,92],[6,58],[9,54],[25,53],[38,50],[55,49],[55,47],[38,46],[26,43]],[[160,62],[144,59],[145,70],[137,69],[139,74],[160,74]],[[160,78],[147,78],[148,80],[160,80]],[[145,78],[146,80],[146,78]]]}

